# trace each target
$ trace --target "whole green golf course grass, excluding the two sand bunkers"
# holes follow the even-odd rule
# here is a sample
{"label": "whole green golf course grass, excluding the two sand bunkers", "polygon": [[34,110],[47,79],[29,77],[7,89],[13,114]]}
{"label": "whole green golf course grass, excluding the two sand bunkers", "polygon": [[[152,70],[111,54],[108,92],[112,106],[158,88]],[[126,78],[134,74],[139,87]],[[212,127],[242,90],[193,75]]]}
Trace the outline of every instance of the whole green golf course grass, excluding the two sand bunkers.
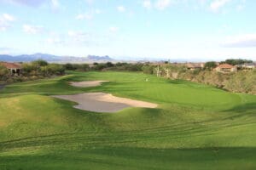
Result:
{"label": "whole green golf course grass, excluding the two sand bunkers", "polygon": [[[68,84],[84,80],[109,82]],[[50,96],[86,92],[159,106],[95,113]],[[256,169],[256,96],[139,72],[14,83],[0,91],[0,169]]]}

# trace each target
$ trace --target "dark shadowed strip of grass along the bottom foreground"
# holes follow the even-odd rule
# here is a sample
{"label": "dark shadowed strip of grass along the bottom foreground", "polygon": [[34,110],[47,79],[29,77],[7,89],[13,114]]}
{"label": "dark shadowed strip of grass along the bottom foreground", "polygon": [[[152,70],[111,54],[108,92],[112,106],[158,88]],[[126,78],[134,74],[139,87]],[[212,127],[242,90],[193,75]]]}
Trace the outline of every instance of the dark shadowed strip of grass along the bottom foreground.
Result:
{"label": "dark shadowed strip of grass along the bottom foreground", "polygon": [[149,149],[103,146],[94,149],[1,156],[1,169],[255,169],[255,147]]}

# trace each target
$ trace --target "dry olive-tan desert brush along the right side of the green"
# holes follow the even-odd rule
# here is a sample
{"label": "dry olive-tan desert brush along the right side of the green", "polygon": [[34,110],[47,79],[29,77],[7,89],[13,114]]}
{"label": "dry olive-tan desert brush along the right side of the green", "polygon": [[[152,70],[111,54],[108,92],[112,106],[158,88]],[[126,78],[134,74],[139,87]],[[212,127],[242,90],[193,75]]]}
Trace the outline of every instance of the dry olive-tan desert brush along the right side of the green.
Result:
{"label": "dry olive-tan desert brush along the right side of the green", "polygon": [[[214,62],[208,62],[203,69],[195,69],[193,71],[189,71],[183,65],[160,65],[160,76],[200,82],[236,93],[256,94],[256,70],[224,74],[212,71],[215,65]],[[157,66],[152,69],[155,75],[157,74],[156,71]]]}

